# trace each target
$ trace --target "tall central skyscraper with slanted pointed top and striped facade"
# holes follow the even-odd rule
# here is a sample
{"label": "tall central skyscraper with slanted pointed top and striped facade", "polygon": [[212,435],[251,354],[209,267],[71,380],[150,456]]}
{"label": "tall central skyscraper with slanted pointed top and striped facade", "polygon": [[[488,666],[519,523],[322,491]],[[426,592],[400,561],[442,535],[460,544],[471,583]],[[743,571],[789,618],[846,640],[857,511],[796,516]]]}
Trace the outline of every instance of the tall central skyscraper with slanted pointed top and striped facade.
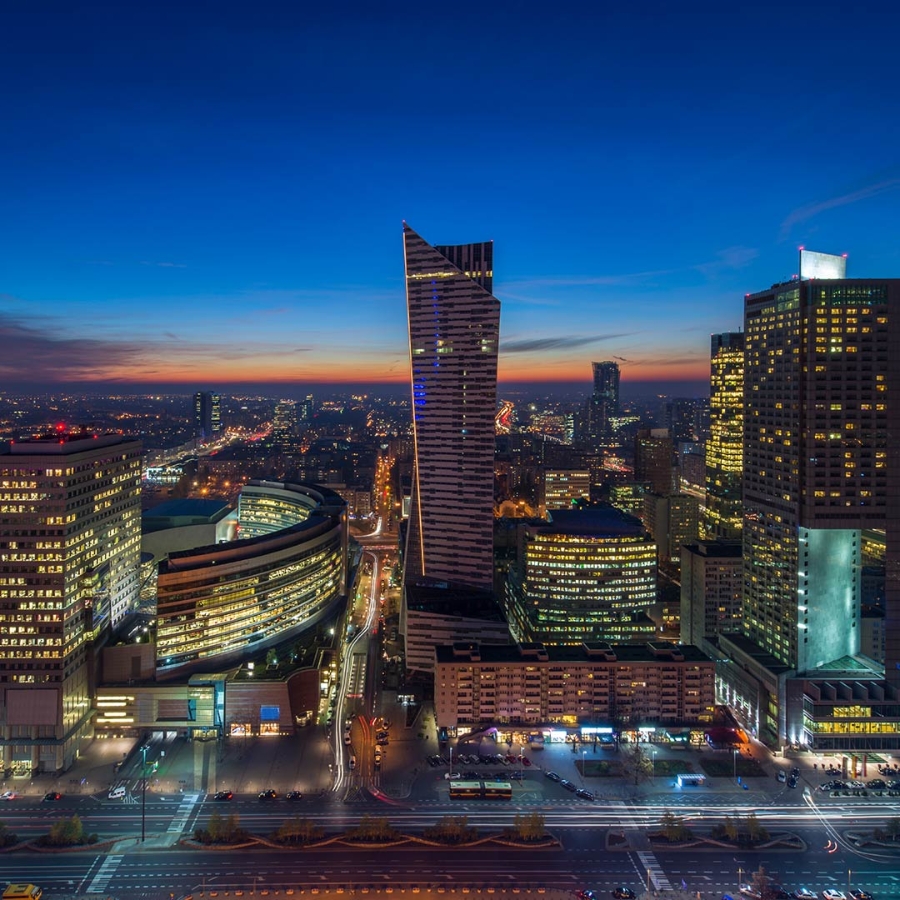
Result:
{"label": "tall central skyscraper with slanted pointed top and striped facade", "polygon": [[493,584],[500,302],[493,246],[432,247],[403,227],[415,465],[404,573]]}

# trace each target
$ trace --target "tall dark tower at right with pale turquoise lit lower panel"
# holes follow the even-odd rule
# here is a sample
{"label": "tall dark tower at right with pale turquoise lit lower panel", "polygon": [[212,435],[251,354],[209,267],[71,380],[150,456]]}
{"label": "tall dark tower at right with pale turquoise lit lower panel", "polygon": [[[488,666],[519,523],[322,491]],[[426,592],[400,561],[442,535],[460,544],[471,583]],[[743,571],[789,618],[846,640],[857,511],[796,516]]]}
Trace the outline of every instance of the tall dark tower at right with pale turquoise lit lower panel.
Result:
{"label": "tall dark tower at right with pale turquoise lit lower panel", "polygon": [[[798,672],[859,651],[860,529],[900,503],[898,314],[897,279],[801,280],[745,300],[743,629]],[[896,594],[892,612],[896,625]]]}

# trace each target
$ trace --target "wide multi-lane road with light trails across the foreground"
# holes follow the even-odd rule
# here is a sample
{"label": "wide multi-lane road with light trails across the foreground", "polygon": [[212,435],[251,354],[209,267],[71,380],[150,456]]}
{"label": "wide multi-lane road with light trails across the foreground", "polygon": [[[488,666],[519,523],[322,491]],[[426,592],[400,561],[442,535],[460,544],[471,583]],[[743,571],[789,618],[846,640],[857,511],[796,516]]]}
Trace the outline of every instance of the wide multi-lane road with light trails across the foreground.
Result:
{"label": "wide multi-lane road with light trails across the foreground", "polygon": [[[664,807],[631,805],[571,804],[542,810],[549,830],[562,846],[553,850],[519,851],[490,847],[474,850],[433,850],[423,847],[388,848],[377,851],[335,847],[314,851],[253,850],[240,853],[160,847],[168,832],[174,842],[180,832],[190,834],[205,824],[213,810],[234,812],[249,831],[265,834],[293,815],[309,818],[329,831],[355,824],[363,815],[385,816],[399,830],[416,832],[448,814],[466,815],[482,834],[496,833],[510,824],[518,810],[510,804],[484,802],[436,804],[428,809],[411,809],[366,802],[342,804],[321,800],[288,803],[284,800],[258,801],[237,797],[230,803],[208,801],[191,804],[154,801],[147,804],[145,846],[122,843],[113,851],[86,850],[76,854],[38,855],[16,853],[0,857],[0,870],[8,879],[33,881],[44,887],[49,898],[76,891],[138,898],[159,897],[161,888],[176,894],[189,893],[204,883],[220,890],[247,889],[254,878],[261,886],[362,885],[393,886],[436,883],[520,884],[560,888],[593,887],[606,891],[624,883],[638,887],[648,871],[679,887],[682,882],[700,891],[704,900],[718,900],[723,892],[734,892],[738,879],[762,863],[783,883],[814,890],[826,887],[846,889],[848,870],[854,886],[866,887],[881,900],[900,898],[900,859],[859,853],[843,840],[843,832],[866,820],[883,822],[890,813],[885,807],[851,805],[829,808],[823,813],[808,806],[779,806],[757,810],[770,830],[790,829],[807,843],[803,853],[738,853],[679,849],[677,852],[646,848],[638,852],[605,850],[609,831],[643,834],[659,823]],[[525,808],[523,807],[523,810]],[[92,798],[73,803],[9,804],[4,821],[20,835],[38,834],[61,815],[77,811],[89,831],[101,837],[140,834],[140,807]],[[738,810],[746,814],[749,808]],[[728,810],[700,805],[682,807],[679,815],[700,830],[721,821]],[[823,821],[823,818],[825,821]],[[833,827],[836,826],[836,827]],[[837,847],[836,852],[834,852]],[[162,877],[161,877],[162,875]],[[165,884],[163,884],[163,881]],[[163,894],[165,896],[165,894]]]}

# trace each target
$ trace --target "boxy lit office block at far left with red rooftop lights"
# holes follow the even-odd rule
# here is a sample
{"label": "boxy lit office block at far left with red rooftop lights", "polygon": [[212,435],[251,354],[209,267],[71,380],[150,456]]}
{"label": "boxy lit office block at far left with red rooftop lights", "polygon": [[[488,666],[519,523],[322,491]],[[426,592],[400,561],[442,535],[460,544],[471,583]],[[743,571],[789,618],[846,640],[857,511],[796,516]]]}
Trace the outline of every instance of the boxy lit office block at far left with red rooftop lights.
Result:
{"label": "boxy lit office block at far left with red rooftop lights", "polygon": [[90,734],[92,647],[137,605],[141,444],[84,432],[0,453],[0,749],[71,765]]}

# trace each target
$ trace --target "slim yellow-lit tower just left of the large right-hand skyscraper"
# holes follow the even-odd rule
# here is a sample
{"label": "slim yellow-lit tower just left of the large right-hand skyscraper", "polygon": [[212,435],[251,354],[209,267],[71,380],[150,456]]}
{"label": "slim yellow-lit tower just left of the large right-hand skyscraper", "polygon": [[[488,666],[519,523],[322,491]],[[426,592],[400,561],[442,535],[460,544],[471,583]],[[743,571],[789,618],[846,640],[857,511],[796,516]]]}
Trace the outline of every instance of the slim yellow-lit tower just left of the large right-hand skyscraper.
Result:
{"label": "slim yellow-lit tower just left of the large right-hand skyscraper", "polygon": [[744,335],[712,336],[709,377],[709,440],[706,442],[705,535],[741,536],[744,467]]}

